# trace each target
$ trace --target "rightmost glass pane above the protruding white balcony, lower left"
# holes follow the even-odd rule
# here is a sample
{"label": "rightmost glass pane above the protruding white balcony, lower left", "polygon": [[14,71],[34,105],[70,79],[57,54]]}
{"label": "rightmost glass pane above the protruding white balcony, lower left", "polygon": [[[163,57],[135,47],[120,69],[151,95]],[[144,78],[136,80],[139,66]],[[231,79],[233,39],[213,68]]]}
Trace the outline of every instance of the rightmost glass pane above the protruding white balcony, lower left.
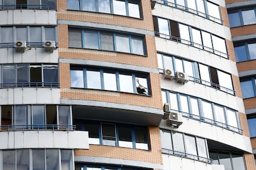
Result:
{"label": "rightmost glass pane above the protruding white balcony, lower left", "polygon": [[70,107],[69,106],[64,106],[64,105],[59,105],[58,106],[58,113],[59,113],[59,124],[62,124],[65,126],[71,124],[70,120]]}

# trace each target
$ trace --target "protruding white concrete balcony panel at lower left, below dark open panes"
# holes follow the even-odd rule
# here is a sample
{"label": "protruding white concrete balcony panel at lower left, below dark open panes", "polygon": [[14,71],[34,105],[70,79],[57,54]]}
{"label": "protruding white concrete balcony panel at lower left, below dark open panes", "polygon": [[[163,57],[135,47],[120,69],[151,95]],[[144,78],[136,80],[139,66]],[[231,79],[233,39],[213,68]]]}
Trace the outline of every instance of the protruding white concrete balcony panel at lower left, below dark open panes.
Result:
{"label": "protruding white concrete balcony panel at lower left, below dark open panes", "polygon": [[0,141],[0,149],[89,148],[86,131],[3,131]]}

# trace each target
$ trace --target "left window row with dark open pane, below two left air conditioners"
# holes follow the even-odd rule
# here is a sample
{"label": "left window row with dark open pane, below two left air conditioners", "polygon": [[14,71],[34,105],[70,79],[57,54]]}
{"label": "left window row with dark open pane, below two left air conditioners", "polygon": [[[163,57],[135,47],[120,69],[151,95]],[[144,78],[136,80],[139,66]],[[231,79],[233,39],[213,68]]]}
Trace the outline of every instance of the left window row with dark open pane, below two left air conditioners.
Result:
{"label": "left window row with dark open pane, below two left air conditioners", "polygon": [[4,87],[59,86],[58,65],[3,64],[0,70]]}

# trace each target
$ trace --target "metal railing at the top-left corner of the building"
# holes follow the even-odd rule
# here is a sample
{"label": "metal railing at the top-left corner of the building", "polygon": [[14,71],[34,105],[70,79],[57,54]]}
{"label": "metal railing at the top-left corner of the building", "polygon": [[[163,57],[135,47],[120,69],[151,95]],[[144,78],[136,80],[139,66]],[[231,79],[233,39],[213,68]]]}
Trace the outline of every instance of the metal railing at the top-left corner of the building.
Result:
{"label": "metal railing at the top-left corner of the building", "polygon": [[13,10],[13,9],[47,9],[47,10],[56,10],[56,5],[27,5],[27,4],[16,4],[9,6],[0,6],[0,10]]}

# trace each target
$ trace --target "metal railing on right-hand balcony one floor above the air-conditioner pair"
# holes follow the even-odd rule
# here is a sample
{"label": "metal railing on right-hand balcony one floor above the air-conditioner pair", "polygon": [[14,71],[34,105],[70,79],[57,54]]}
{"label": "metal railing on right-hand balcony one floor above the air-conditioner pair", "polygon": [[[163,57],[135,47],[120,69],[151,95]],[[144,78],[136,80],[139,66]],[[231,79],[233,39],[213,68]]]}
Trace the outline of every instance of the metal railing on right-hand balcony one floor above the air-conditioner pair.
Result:
{"label": "metal railing on right-hand balcony one floor above the air-conditioner pair", "polygon": [[211,52],[213,54],[220,55],[221,57],[229,59],[229,55],[224,53],[224,52],[217,51],[216,49],[213,49],[213,48],[210,48],[210,47],[207,47],[207,46],[203,46],[202,44],[197,44],[196,42],[188,41],[187,39],[182,39],[182,38],[179,38],[177,36],[172,36],[172,35],[158,33],[158,32],[155,32],[155,35],[160,37],[160,38],[169,39],[169,40],[175,41],[175,42],[180,42],[182,44],[186,44],[188,46],[192,46],[192,47],[195,47],[195,48],[198,48],[198,49],[202,49],[204,51]]}

